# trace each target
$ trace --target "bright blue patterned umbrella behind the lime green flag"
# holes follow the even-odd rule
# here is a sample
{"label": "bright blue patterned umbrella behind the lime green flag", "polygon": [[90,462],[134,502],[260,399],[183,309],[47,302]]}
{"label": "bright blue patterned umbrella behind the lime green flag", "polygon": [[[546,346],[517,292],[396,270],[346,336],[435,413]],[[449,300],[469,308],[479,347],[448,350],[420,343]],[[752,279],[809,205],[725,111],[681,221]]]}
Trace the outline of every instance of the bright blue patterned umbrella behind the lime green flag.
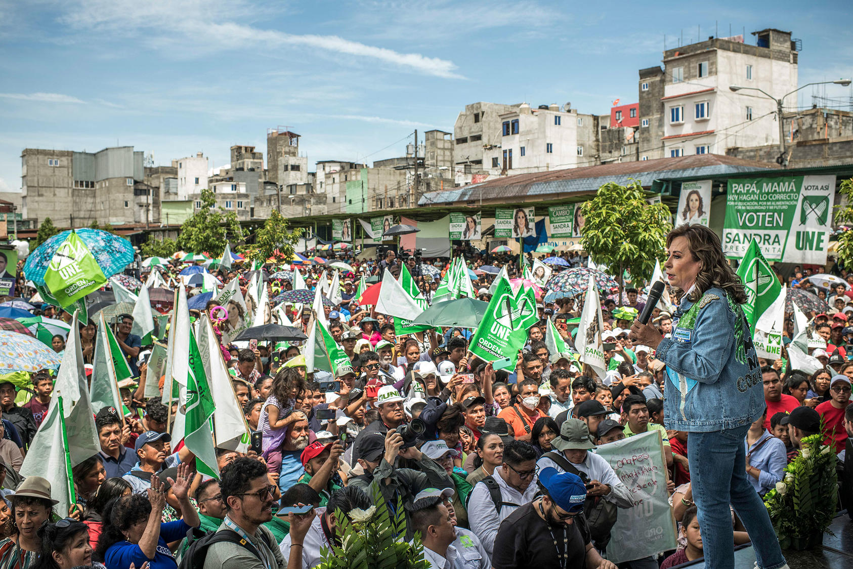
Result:
{"label": "bright blue patterned umbrella behind the lime green flag", "polygon": [[[88,227],[75,229],[75,231],[86,247],[89,247],[107,278],[120,273],[128,264],[133,263],[133,246],[131,241],[127,241],[124,237]],[[44,282],[44,273],[48,270],[50,259],[68,235],[71,235],[70,230],[57,233],[30,253],[24,264],[26,278],[41,287],[47,286]]]}

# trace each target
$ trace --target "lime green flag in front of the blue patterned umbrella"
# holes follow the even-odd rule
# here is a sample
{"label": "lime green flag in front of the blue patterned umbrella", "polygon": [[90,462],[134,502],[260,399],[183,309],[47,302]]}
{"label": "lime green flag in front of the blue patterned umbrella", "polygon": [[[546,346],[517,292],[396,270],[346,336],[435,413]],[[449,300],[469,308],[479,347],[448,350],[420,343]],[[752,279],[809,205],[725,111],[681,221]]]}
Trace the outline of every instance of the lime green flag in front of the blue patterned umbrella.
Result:
{"label": "lime green flag in front of the blue patterned umbrella", "polygon": [[107,277],[89,247],[72,231],[50,259],[44,282],[59,305],[66,308],[102,287]]}

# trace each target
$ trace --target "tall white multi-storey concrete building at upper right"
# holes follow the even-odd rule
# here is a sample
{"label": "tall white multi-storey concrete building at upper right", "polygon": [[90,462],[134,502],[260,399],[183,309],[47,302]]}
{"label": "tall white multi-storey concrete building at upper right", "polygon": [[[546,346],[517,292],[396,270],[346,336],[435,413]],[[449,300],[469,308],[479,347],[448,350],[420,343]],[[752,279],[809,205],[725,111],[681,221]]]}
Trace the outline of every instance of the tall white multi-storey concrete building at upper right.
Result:
{"label": "tall white multi-storey concrete building at upper right", "polygon": [[[798,51],[791,32],[753,32],[757,45],[710,38],[664,51],[664,157],[725,154],[729,147],[779,142],[776,103],[798,87]],[[643,117],[641,116],[641,119]],[[641,154],[641,159],[646,154]]]}

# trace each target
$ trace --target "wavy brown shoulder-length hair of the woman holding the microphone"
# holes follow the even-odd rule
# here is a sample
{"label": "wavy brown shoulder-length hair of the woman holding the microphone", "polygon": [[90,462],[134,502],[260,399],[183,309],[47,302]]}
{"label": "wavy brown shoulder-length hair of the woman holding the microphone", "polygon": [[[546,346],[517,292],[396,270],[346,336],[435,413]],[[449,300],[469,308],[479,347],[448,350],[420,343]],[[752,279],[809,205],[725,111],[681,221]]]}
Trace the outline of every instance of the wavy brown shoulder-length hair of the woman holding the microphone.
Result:
{"label": "wavy brown shoulder-length hair of the woman holding the microphone", "polygon": [[[699,275],[696,276],[696,287],[690,294],[692,302],[698,302],[709,288],[719,287],[730,294],[739,305],[746,303],[746,289],[740,282],[740,276],[737,276],[722,253],[720,238],[716,233],[705,225],[679,225],[666,235],[666,247],[670,247],[676,237],[688,240],[690,255],[701,264]],[[685,292],[676,289],[679,298]]]}

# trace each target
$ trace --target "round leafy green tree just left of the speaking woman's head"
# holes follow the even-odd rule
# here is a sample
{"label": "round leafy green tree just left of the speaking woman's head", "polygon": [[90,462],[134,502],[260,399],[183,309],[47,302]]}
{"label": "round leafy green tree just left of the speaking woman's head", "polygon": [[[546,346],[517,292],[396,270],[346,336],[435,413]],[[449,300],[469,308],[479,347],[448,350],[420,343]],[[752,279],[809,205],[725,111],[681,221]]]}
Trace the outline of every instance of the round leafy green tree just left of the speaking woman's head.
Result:
{"label": "round leafy green tree just left of the speaking woman's head", "polygon": [[637,282],[652,276],[672,224],[669,208],[649,204],[639,180],[632,179],[627,186],[604,184],[595,198],[583,204],[581,212],[586,220],[581,247],[618,278],[620,293],[624,270],[629,270]]}

